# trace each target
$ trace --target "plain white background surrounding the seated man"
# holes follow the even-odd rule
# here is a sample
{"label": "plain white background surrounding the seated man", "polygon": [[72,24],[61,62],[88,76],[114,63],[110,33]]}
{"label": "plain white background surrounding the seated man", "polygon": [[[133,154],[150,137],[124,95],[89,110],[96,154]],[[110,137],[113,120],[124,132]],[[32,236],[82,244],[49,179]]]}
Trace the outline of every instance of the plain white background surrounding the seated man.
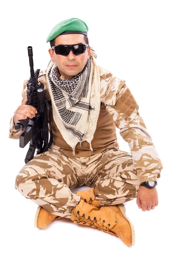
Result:
{"label": "plain white background surrounding the seated man", "polygon": [[[61,20],[72,17],[88,25],[89,44],[96,51],[98,65],[126,81],[164,166],[155,209],[143,212],[136,198],[125,203],[126,215],[135,227],[133,247],[68,219],[54,221],[44,230],[36,229],[38,205],[14,189],[28,145],[20,148],[19,140],[8,138],[8,130],[22,100],[23,80],[30,77],[27,47],[33,47],[34,70],[46,69],[50,61],[48,33]],[[0,19],[1,255],[158,255],[169,250],[169,1],[15,0],[1,4]],[[116,131],[120,149],[130,152]]]}

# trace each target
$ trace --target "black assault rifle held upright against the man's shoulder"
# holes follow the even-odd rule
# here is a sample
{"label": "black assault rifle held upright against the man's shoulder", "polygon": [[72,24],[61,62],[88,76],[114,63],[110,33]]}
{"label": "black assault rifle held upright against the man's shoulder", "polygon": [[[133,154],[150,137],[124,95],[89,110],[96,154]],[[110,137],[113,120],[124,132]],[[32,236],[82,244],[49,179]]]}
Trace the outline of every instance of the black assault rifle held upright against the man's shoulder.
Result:
{"label": "black assault rifle held upright against the man's shoulder", "polygon": [[[19,120],[14,128],[21,129],[23,134],[20,135],[20,148],[24,148],[30,141],[30,146],[26,154],[25,163],[28,163],[33,157],[35,149],[37,148],[37,154],[45,152],[52,144],[52,130],[51,130],[51,114],[52,107],[51,101],[46,99],[46,90],[44,84],[38,81],[40,70],[36,70],[34,73],[33,64],[33,52],[32,47],[28,46],[28,57],[31,76],[27,83],[27,102],[26,105],[31,105],[37,109],[35,117],[30,119]],[[49,111],[49,123],[50,123],[50,140],[48,143],[48,115]]]}

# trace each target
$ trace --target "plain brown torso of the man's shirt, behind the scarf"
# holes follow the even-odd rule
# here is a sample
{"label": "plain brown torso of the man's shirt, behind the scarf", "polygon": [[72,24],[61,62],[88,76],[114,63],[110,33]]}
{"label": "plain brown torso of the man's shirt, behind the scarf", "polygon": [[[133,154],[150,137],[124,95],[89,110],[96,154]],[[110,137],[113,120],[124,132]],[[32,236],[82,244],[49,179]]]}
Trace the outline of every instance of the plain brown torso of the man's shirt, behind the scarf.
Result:
{"label": "plain brown torso of the man's shirt, behind the scarf", "polygon": [[[51,100],[46,82],[46,70],[40,72],[38,81],[41,81],[45,85],[47,89],[47,100]],[[60,150],[63,151],[66,156],[73,157],[73,150],[71,146],[68,145],[63,139],[62,134],[60,133],[53,119],[53,116],[51,118],[51,128],[53,132],[53,144],[62,148]],[[81,146],[79,145],[79,143],[77,143],[75,148],[75,157],[88,157],[93,154],[98,154],[104,151],[106,148],[119,148],[116,137],[115,122],[106,111],[106,107],[104,104],[100,106],[99,118],[97,121],[96,131],[94,133],[94,138],[91,142],[91,146],[93,148],[93,151],[90,151],[90,145],[87,141],[83,141]]]}

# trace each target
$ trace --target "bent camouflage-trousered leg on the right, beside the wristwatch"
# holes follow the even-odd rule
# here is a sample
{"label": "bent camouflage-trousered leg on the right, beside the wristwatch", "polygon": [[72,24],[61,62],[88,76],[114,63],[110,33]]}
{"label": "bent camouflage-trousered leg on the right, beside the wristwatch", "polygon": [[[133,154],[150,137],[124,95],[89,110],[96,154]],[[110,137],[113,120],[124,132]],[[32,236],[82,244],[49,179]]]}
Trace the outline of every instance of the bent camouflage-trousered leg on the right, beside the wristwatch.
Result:
{"label": "bent camouflage-trousered leg on the right, beside the wristwatch", "polygon": [[130,153],[106,150],[91,168],[95,178],[91,176],[86,184],[94,187],[95,199],[101,206],[122,204],[137,197],[140,183]]}

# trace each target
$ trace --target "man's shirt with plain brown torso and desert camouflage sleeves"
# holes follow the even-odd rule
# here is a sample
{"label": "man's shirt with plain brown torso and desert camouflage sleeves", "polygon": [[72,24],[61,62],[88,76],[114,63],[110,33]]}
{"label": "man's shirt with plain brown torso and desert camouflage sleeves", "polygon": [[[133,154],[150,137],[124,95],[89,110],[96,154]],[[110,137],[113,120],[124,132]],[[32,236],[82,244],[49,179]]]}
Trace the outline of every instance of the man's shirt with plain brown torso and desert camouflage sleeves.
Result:
{"label": "man's shirt with plain brown torso and desert camouflage sleeves", "polygon": [[[146,180],[157,180],[160,177],[163,168],[158,152],[152,142],[152,138],[147,131],[142,116],[139,114],[139,105],[134,99],[125,81],[117,78],[108,70],[99,67],[100,71],[100,107],[99,118],[92,140],[90,151],[89,143],[83,141],[80,147],[77,144],[75,148],[76,157],[86,157],[97,154],[105,148],[118,148],[116,138],[116,127],[120,129],[120,135],[128,143],[133,158],[133,166],[137,171],[140,183]],[[63,76],[60,79],[65,79]],[[47,89],[46,97],[50,99],[46,83],[46,70],[39,74],[39,81]],[[28,80],[24,81],[22,92],[22,102],[26,98],[26,85]],[[53,143],[59,146],[69,157],[72,157],[72,148],[63,140],[62,135],[57,128],[54,119],[51,122],[53,132]],[[18,139],[22,134],[20,130],[14,130],[13,117],[10,121],[9,137]]]}

